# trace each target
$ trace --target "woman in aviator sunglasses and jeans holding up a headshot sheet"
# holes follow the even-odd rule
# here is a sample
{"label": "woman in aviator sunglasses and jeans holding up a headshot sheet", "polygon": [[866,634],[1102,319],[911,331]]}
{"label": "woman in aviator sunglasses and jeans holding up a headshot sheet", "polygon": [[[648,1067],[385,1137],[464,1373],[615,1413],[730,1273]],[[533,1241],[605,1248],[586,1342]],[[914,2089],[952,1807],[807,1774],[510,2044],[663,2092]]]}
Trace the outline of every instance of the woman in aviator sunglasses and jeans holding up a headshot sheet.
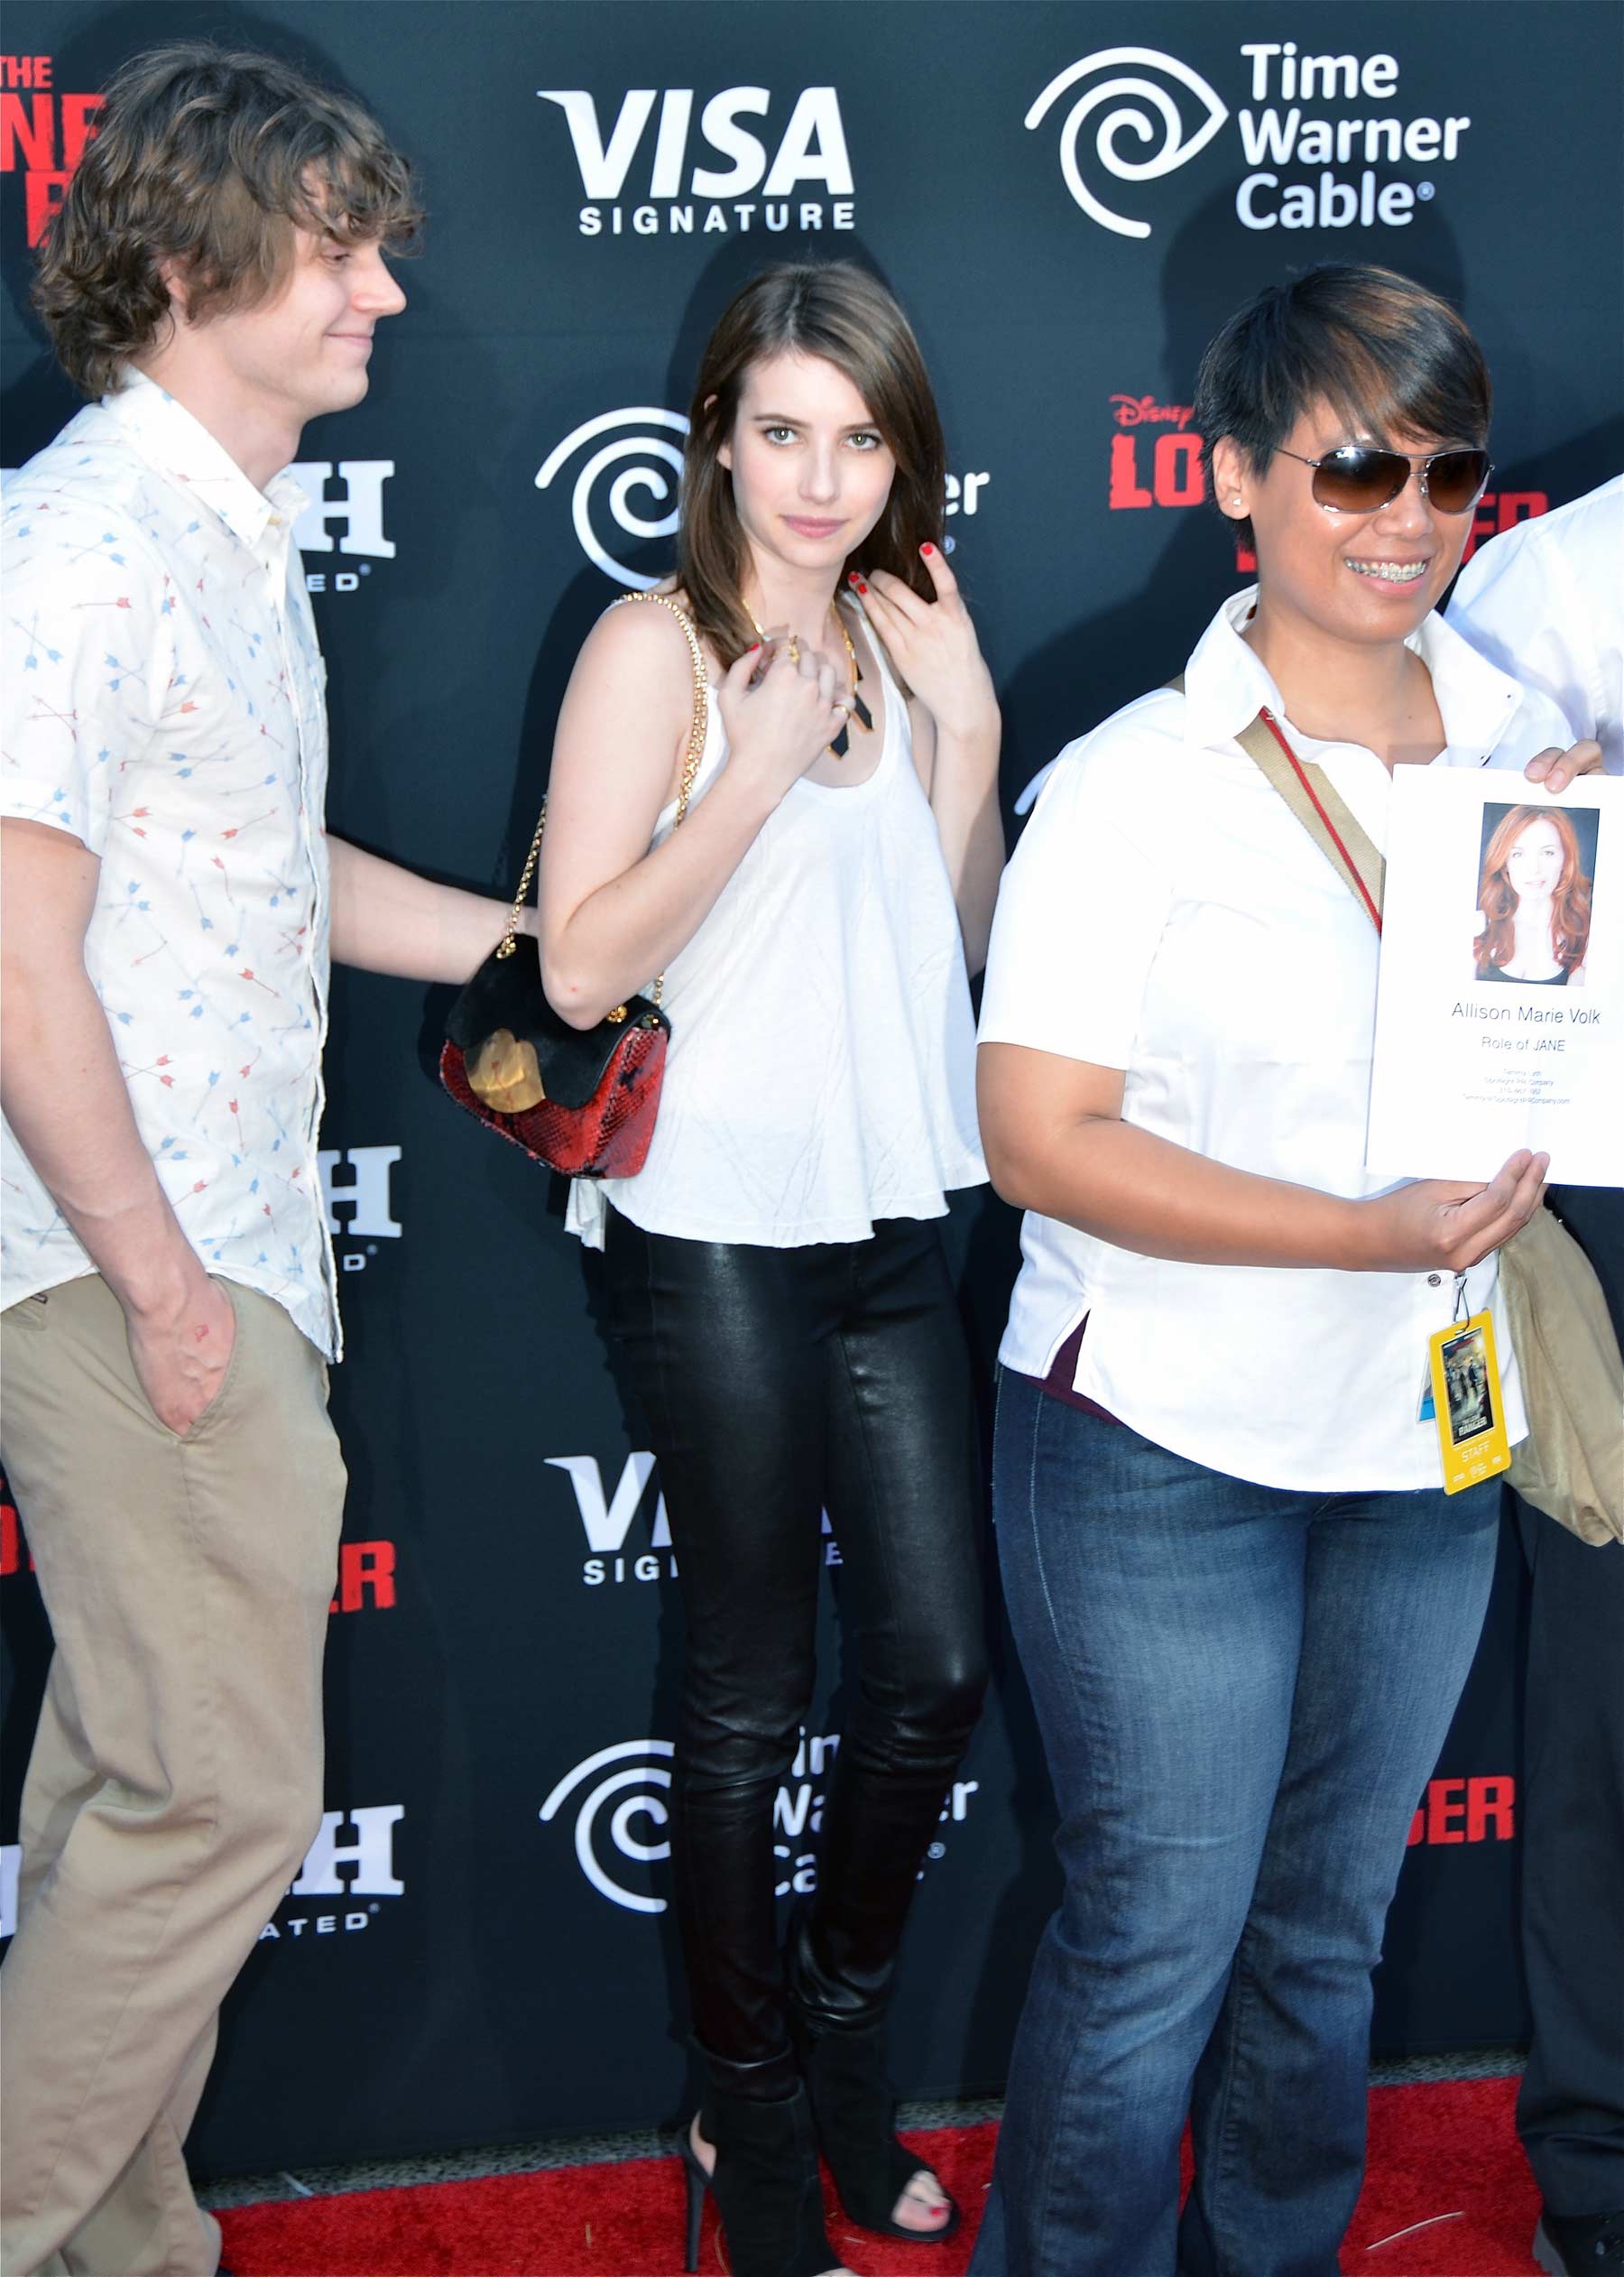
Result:
{"label": "woman in aviator sunglasses and jeans holding up a headshot sheet", "polygon": [[1487,421],[1401,276],[1244,307],[1196,424],[1257,585],[1061,754],[1000,890],[993,1491],[1066,1892],[977,2277],[1332,2277],[1358,2197],[1371,1967],[1494,1567],[1496,1482],[1446,1498],[1417,1419],[1428,1337],[1494,1307],[1544,1157],[1376,1191],[1376,927],[1237,738],[1264,715],[1376,845],[1399,765],[1560,788],[1594,754],[1433,615]]}

